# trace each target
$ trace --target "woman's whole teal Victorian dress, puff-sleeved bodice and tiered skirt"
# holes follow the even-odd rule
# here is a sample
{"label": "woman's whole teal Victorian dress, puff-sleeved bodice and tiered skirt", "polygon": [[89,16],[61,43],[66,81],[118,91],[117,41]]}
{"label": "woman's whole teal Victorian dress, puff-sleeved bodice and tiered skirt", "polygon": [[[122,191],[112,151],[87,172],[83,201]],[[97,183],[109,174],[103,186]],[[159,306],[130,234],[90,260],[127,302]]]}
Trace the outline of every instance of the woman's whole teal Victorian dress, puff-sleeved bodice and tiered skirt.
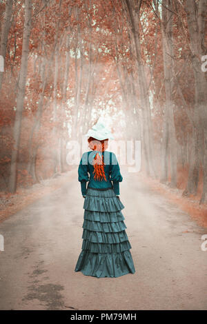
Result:
{"label": "woman's whole teal Victorian dress, puff-sleeved bodice and tiered skirt", "polygon": [[86,198],[83,203],[83,242],[75,272],[81,271],[86,276],[97,278],[133,274],[135,266],[131,245],[121,212],[124,205],[118,197],[119,182],[123,180],[119,163],[114,153],[98,152],[103,154],[107,181],[97,181],[92,173],[92,160],[96,153],[84,153],[78,168],[81,193]]}

